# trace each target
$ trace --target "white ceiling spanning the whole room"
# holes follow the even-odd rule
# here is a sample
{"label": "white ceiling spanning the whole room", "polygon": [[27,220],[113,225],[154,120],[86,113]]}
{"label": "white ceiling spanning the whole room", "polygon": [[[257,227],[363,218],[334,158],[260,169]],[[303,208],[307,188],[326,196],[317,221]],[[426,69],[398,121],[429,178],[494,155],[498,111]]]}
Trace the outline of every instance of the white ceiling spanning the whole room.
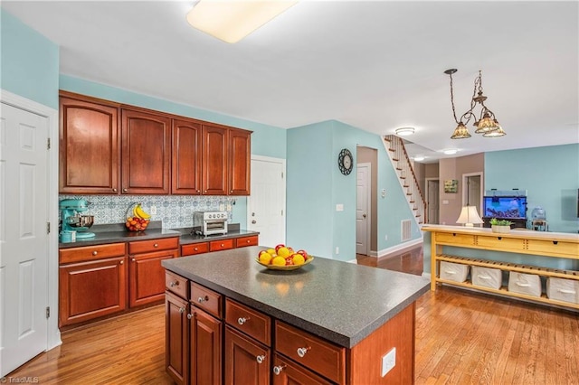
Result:
{"label": "white ceiling spanning the whole room", "polygon": [[[193,2],[12,2],[61,47],[61,73],[275,127],[415,127],[426,161],[579,143],[579,3],[302,1],[235,44],[190,27]],[[482,85],[507,136],[451,140]]]}

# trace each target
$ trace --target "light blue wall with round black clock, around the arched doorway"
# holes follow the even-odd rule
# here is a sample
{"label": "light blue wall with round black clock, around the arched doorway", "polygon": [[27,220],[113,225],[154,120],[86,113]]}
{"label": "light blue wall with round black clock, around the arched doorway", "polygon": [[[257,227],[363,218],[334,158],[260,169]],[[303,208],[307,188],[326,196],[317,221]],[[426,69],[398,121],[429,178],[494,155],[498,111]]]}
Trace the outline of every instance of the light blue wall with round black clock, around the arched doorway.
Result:
{"label": "light blue wall with round black clock, around the arched doorway", "polygon": [[[387,192],[385,198],[378,199],[378,250],[375,251],[401,243],[401,221],[413,220],[413,212],[381,136],[332,120],[288,130],[287,241],[290,246],[307,249],[324,258],[356,258],[356,167],[348,175],[341,174],[337,167],[342,148],[350,150],[356,164],[356,146],[377,150],[377,188]],[[344,211],[336,211],[337,204],[343,204]],[[413,222],[413,239],[421,236]]]}

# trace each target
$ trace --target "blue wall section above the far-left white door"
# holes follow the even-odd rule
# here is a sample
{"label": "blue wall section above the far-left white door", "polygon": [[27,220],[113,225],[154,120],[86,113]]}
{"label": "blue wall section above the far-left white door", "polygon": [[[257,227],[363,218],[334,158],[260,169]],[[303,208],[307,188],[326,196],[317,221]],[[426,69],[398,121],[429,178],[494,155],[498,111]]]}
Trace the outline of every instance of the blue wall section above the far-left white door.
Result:
{"label": "blue wall section above the far-left white door", "polygon": [[58,45],[2,8],[0,31],[0,88],[58,109]]}

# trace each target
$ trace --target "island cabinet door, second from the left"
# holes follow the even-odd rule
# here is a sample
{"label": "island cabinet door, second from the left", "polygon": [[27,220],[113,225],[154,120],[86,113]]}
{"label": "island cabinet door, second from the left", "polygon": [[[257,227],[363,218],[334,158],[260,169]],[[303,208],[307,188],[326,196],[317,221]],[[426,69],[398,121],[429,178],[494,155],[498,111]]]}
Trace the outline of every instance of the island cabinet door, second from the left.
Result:
{"label": "island cabinet door, second from the left", "polygon": [[221,384],[221,335],[223,323],[203,310],[191,306],[190,368],[193,385]]}

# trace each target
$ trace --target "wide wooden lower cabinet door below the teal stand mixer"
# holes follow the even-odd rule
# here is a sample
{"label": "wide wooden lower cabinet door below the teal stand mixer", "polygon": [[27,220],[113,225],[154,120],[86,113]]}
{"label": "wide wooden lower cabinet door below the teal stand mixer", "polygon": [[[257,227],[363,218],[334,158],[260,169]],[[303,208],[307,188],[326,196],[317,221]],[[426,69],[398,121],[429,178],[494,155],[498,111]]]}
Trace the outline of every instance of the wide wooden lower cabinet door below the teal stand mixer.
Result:
{"label": "wide wooden lower cabinet door below the teal stand mixer", "polygon": [[121,312],[127,307],[125,257],[59,268],[59,326]]}

